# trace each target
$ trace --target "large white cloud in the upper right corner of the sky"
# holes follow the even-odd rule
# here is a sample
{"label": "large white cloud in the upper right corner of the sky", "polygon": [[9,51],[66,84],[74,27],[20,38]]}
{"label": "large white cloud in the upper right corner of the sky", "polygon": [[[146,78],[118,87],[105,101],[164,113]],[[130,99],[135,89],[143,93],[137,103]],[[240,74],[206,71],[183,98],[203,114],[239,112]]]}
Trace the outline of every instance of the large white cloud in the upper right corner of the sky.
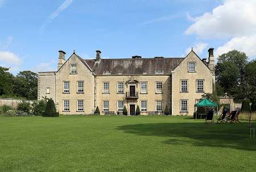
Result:
{"label": "large white cloud in the upper right corner of the sky", "polygon": [[204,38],[226,38],[252,35],[256,28],[255,0],[224,0],[212,12],[192,18],[195,20],[186,31],[187,35],[195,33]]}

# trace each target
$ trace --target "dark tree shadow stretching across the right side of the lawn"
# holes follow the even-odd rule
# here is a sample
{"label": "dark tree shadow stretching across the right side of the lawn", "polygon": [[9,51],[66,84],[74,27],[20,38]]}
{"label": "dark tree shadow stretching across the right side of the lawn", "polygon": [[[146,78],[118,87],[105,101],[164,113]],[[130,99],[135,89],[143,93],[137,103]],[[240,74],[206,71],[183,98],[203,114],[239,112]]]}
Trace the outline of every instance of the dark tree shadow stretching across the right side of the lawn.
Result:
{"label": "dark tree shadow stretching across the right side of the lawn", "polygon": [[166,144],[256,151],[256,139],[250,139],[250,129],[246,126],[247,123],[146,123],[118,126],[117,129],[136,135],[167,137]]}

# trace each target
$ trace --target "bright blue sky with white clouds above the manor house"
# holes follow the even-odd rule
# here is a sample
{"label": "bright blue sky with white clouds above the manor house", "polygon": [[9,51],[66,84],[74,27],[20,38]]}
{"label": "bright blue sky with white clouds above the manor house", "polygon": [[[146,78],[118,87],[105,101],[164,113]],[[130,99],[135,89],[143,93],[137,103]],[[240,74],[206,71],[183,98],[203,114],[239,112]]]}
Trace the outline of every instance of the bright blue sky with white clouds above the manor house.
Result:
{"label": "bright blue sky with white clouds above the manor house", "polygon": [[[240,11],[237,12],[237,7]],[[0,0],[0,66],[54,71],[58,50],[67,58],[201,58],[231,49],[256,56],[254,0]],[[241,27],[242,26],[242,27]]]}

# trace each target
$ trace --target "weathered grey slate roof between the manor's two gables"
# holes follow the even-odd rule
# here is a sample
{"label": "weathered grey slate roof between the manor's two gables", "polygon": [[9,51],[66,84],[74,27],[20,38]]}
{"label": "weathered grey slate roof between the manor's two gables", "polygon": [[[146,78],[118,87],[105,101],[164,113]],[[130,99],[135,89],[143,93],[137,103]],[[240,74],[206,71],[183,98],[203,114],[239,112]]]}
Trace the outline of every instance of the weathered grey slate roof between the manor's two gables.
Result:
{"label": "weathered grey slate roof between the manor's two gables", "polygon": [[96,75],[155,75],[163,71],[170,75],[184,58],[126,58],[126,59],[84,59]]}

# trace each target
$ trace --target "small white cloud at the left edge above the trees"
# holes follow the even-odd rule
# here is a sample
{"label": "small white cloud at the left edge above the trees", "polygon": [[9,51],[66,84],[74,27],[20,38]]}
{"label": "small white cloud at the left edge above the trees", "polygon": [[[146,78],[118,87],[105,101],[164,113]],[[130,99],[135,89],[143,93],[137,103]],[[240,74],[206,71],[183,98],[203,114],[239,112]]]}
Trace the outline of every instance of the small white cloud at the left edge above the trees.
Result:
{"label": "small white cloud at the left edge above the trees", "polygon": [[10,71],[16,71],[20,63],[22,60],[17,54],[10,51],[0,51],[0,66],[10,67]]}

